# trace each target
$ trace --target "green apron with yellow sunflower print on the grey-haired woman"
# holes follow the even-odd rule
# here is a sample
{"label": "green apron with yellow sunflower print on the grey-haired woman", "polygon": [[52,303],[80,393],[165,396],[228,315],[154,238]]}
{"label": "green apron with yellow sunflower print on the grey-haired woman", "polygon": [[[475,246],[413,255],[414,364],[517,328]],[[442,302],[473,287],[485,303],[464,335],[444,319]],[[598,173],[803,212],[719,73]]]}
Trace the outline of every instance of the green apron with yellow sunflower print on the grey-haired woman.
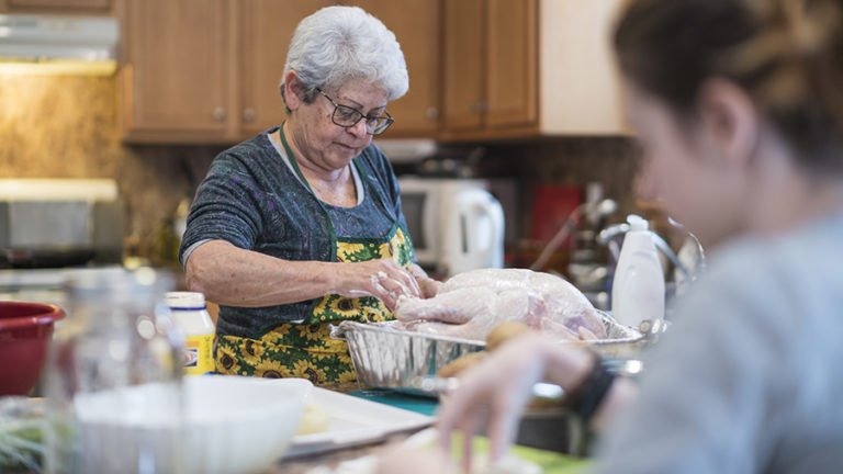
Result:
{"label": "green apron with yellow sunflower print on the grey-haired woman", "polygon": [[[337,236],[330,215],[304,179],[290,146],[280,134],[284,151],[299,179],[307,187],[325,215],[330,236],[330,261],[361,262],[391,258],[402,267],[413,261],[409,234],[394,218],[391,229],[382,236]],[[357,162],[355,162],[357,166]],[[366,170],[357,166],[363,182]],[[391,215],[380,193],[370,192],[386,215]],[[330,294],[314,300],[302,323],[282,324],[260,339],[220,336],[216,348],[216,371],[225,374],[263,377],[302,377],[317,385],[355,381],[355,369],[345,341],[330,338],[330,324],[341,320],[362,323],[394,319],[394,315],[374,296],[346,297]]]}

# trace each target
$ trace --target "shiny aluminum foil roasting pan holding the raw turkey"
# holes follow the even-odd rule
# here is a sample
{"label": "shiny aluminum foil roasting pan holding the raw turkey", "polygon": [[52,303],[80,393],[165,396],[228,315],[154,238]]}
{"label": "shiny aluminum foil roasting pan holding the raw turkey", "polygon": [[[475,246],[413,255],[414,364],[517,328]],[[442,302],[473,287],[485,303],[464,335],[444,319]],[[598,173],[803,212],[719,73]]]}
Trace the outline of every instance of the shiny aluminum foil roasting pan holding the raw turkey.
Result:
{"label": "shiny aluminum foil roasting pan holding the raw turkey", "polygon": [[[637,329],[622,326],[603,314],[608,338],[572,343],[591,347],[608,358],[627,358],[643,342]],[[436,376],[439,369],[469,352],[485,350],[485,342],[447,336],[419,334],[391,323],[342,321],[331,337],[348,342],[359,383],[414,395],[436,396],[417,388],[418,381]]]}

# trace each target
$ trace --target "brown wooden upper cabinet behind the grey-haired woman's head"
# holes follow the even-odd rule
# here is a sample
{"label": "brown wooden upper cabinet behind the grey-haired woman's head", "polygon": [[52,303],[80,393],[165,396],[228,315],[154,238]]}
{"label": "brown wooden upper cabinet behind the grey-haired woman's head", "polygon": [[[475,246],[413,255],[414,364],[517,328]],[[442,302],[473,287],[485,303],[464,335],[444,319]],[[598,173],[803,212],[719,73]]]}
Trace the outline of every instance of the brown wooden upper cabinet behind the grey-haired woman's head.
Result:
{"label": "brown wooden upper cabinet behind the grey-haired woman's head", "polygon": [[[123,139],[236,143],[284,120],[279,83],[306,15],[359,4],[402,42],[411,92],[390,104],[395,136],[438,127],[439,0],[126,0],[121,68]],[[417,71],[417,72],[413,72]],[[403,135],[402,135],[403,134]]]}

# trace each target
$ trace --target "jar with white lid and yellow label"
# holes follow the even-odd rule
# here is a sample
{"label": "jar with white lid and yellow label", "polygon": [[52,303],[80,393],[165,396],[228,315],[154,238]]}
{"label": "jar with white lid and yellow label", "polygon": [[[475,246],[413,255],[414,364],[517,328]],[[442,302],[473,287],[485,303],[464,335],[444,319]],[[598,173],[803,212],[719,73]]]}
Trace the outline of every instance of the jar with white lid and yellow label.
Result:
{"label": "jar with white lid and yellow label", "polygon": [[167,306],[173,324],[184,332],[184,373],[214,372],[214,334],[216,329],[205,306],[205,296],[194,292],[169,292]]}

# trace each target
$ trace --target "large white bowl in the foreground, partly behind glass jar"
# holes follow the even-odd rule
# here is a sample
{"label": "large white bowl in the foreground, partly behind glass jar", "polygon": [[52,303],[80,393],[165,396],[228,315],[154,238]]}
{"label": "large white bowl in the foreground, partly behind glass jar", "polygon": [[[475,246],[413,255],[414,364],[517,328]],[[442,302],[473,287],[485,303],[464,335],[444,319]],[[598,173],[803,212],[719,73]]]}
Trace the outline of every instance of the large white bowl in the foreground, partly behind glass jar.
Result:
{"label": "large white bowl in the foreground, partly behind glass jar", "polygon": [[176,385],[79,394],[83,471],[260,472],[289,447],[312,387],[304,379],[191,376],[181,409]]}

